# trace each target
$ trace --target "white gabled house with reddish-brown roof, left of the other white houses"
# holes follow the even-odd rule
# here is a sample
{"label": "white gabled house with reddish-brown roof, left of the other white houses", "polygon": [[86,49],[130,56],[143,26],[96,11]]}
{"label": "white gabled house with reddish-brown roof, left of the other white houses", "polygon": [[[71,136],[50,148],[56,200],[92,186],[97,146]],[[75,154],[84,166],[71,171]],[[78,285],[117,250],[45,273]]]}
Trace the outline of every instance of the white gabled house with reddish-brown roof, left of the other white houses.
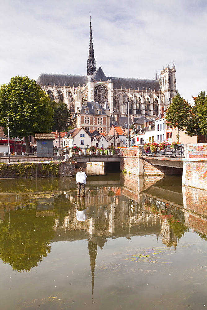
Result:
{"label": "white gabled house with reddish-brown roof, left of the other white houses", "polygon": [[63,148],[79,146],[79,148],[88,148],[91,146],[90,135],[83,127],[73,128],[63,137]]}

